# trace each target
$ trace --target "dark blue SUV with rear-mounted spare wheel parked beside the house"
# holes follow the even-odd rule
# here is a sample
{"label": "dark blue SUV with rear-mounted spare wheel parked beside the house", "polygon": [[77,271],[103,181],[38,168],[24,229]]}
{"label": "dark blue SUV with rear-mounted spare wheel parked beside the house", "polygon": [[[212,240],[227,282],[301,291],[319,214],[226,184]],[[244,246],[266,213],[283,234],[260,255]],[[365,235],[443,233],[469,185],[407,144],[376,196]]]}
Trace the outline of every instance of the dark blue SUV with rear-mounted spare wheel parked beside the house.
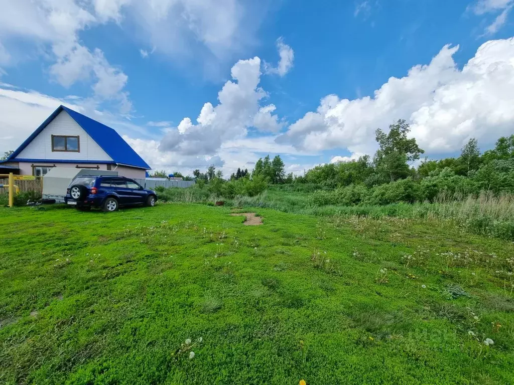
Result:
{"label": "dark blue SUV with rear-mounted spare wheel parked beside the house", "polygon": [[157,195],[132,179],[82,175],[71,181],[64,202],[83,211],[91,207],[116,211],[120,206],[155,206]]}

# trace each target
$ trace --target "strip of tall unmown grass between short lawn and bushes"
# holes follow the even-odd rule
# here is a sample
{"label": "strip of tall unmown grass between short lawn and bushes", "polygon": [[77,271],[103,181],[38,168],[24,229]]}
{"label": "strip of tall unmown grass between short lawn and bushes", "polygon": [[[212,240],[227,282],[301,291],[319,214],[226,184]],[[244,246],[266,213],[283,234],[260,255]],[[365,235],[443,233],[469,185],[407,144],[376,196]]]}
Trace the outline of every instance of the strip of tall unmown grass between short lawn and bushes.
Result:
{"label": "strip of tall unmown grass between short lawn and bushes", "polygon": [[323,217],[442,219],[475,234],[514,241],[514,195],[497,197],[490,192],[482,192],[479,196],[467,198],[440,195],[434,203],[344,206],[316,205],[309,199],[309,190],[310,188],[295,190],[271,186],[255,197],[236,196],[233,199],[224,199],[210,194],[206,188],[168,188],[159,197],[166,201],[207,204],[224,200],[227,206],[271,208],[286,213]]}

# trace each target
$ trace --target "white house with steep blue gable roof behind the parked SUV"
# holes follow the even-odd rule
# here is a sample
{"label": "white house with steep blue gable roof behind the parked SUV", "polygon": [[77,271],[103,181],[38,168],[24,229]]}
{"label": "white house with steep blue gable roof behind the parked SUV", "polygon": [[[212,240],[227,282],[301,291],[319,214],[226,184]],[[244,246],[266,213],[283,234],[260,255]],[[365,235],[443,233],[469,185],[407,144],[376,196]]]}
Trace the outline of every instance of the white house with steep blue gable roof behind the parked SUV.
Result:
{"label": "white house with steep blue gable roof behind the parked SUV", "polygon": [[111,127],[59,106],[0,167],[43,176],[52,167],[113,170],[144,179],[150,166]]}

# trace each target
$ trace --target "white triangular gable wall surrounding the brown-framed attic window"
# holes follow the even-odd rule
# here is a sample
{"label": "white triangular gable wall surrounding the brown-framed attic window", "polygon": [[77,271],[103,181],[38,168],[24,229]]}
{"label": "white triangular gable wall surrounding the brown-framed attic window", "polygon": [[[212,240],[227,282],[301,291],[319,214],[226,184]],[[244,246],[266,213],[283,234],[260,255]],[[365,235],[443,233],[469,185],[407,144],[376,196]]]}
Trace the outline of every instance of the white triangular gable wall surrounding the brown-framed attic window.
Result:
{"label": "white triangular gable wall surrounding the brown-framed attic window", "polygon": [[[52,152],[52,135],[79,136],[80,152]],[[66,111],[61,111],[15,159],[113,160]]]}

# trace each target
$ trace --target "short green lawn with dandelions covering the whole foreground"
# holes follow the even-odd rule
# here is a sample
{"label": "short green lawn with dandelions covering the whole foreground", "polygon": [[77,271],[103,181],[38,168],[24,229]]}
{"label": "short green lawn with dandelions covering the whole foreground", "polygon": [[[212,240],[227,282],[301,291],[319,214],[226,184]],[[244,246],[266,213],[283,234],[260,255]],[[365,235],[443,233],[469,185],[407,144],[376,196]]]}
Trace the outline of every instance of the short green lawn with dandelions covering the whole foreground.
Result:
{"label": "short green lawn with dandelions covering the whole foreground", "polygon": [[256,213],[0,208],[0,383],[514,383],[512,243]]}

